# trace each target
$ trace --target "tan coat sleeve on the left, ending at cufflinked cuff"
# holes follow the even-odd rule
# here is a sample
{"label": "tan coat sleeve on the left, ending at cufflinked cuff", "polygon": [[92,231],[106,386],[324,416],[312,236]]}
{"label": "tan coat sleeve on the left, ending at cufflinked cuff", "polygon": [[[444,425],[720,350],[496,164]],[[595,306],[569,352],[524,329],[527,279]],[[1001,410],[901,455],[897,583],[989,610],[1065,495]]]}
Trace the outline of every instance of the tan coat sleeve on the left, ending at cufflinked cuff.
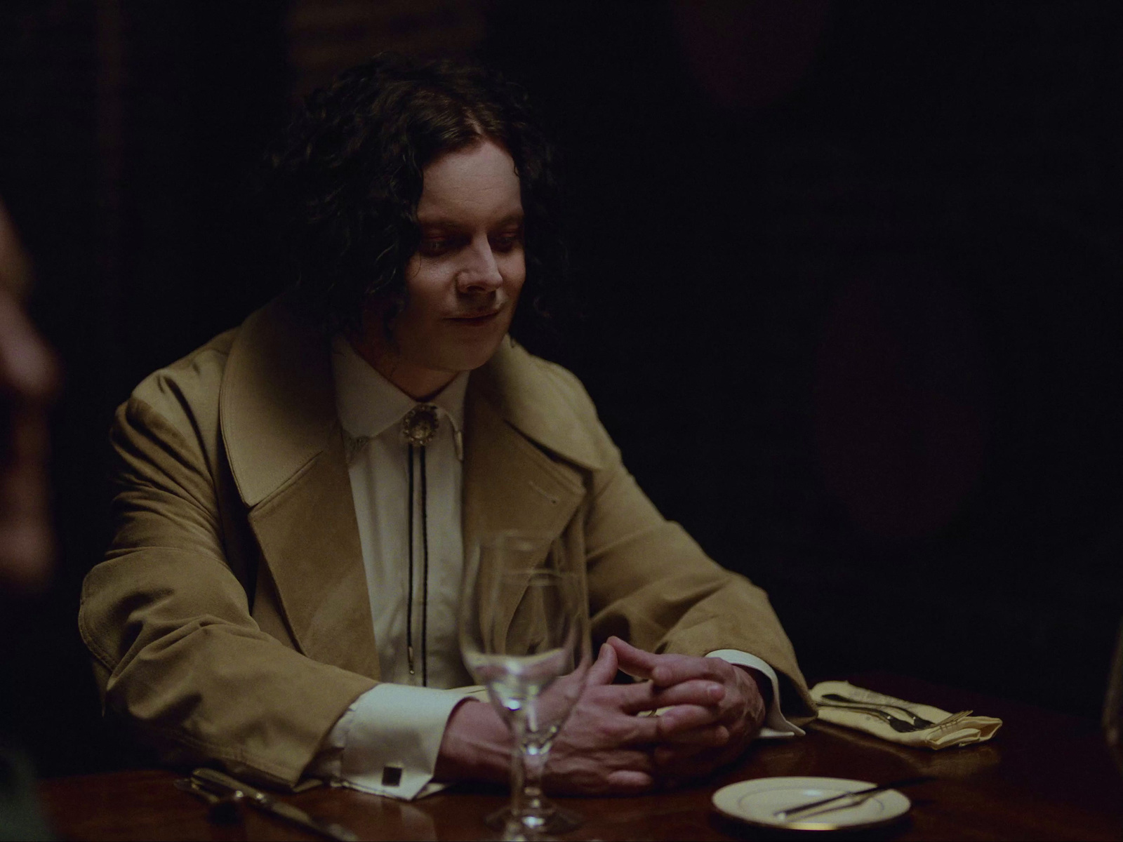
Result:
{"label": "tan coat sleeve on the left, ending at cufflinked cuff", "polygon": [[177,420],[136,396],[117,412],[115,536],[83,583],[82,639],[106,708],[165,761],[218,761],[292,786],[375,683],[304,657],[254,620],[227,558],[203,434]]}

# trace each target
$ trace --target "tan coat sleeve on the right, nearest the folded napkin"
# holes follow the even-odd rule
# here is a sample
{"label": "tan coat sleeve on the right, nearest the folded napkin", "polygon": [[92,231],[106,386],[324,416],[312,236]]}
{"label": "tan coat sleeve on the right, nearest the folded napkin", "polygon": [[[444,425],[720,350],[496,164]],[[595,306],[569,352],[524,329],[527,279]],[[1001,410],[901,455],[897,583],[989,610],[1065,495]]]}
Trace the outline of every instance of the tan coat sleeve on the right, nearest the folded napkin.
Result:
{"label": "tan coat sleeve on the right, nearest the folded napkin", "polygon": [[779,675],[788,719],[813,717],[807,684],[768,595],[663,518],[624,468],[584,390],[575,378],[572,384],[587,406],[603,465],[592,472],[584,524],[594,639],[617,634],[652,652],[751,652]]}

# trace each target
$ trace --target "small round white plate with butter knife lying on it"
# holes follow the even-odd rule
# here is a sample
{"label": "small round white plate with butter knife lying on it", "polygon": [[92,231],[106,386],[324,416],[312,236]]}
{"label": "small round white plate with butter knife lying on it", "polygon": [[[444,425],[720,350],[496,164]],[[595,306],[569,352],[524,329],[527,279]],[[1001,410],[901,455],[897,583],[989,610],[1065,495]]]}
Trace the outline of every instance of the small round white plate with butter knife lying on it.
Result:
{"label": "small round white plate with butter knife lying on it", "polygon": [[[888,824],[905,813],[912,802],[896,789],[871,795],[852,807],[832,809],[785,821],[776,811],[853,793],[874,786],[866,780],[846,778],[755,778],[730,784],[713,794],[718,812],[758,827],[783,827],[793,831],[859,830]],[[825,805],[824,805],[825,806]]]}

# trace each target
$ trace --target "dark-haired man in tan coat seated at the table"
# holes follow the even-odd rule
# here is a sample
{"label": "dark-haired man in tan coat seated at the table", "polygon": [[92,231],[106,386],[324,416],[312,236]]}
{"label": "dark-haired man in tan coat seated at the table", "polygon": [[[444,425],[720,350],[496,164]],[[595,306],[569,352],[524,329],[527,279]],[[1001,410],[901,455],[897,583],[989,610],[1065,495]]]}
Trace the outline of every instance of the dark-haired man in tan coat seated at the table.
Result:
{"label": "dark-haired man in tan coat seated at the table", "polygon": [[521,97],[376,60],[313,94],[273,164],[295,289],[118,411],[116,538],[80,617],[107,706],[170,761],[285,786],[501,779],[506,727],[449,689],[455,616],[465,550],[524,529],[585,559],[606,641],[557,788],[643,791],[766,720],[797,733],[777,695],[810,702],[767,597],[663,520],[581,384],[508,337],[557,283]]}

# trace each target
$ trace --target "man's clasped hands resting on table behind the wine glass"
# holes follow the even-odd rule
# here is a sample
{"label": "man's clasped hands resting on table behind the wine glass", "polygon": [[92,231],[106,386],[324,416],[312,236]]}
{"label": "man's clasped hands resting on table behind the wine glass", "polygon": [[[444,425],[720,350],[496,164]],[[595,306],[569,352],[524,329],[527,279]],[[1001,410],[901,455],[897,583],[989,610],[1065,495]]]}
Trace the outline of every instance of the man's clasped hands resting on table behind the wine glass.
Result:
{"label": "man's clasped hands resting on table behind the wine glass", "polygon": [[[638,683],[612,684],[618,670]],[[626,795],[707,775],[760,731],[769,692],[759,672],[720,658],[652,655],[610,638],[555,740],[546,785],[556,793]],[[446,727],[437,777],[503,780],[510,744],[491,705],[462,704]]]}

